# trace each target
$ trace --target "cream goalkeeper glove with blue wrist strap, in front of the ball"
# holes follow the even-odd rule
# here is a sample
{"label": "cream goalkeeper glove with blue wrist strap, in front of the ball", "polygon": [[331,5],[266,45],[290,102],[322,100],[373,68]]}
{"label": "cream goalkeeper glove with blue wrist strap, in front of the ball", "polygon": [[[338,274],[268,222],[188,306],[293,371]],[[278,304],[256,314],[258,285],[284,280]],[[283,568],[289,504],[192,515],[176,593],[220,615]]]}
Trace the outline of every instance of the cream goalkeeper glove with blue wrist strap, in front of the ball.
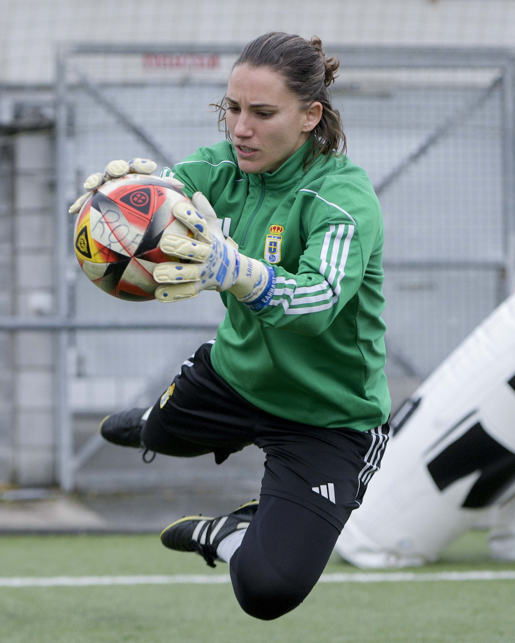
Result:
{"label": "cream goalkeeper glove with blue wrist strap, in front of the ball", "polygon": [[201,290],[229,290],[248,307],[260,310],[274,294],[274,269],[241,255],[236,243],[225,239],[216,213],[201,192],[195,192],[192,203],[194,207],[177,203],[173,214],[193,237],[165,234],[159,243],[165,255],[188,263],[166,262],[154,268],[154,280],[165,284],[156,288],[156,299],[176,302],[196,297]]}

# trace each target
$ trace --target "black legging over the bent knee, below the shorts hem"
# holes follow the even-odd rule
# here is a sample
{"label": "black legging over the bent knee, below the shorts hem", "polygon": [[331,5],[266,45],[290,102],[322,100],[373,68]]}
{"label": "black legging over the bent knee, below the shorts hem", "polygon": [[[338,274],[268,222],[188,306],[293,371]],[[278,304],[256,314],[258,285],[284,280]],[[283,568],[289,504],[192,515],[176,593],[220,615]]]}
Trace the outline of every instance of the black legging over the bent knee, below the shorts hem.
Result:
{"label": "black legging over the bent knee, below the shorts hem", "polygon": [[338,534],[310,509],[262,495],[230,559],[230,578],[241,608],[256,619],[272,620],[297,607],[317,583]]}

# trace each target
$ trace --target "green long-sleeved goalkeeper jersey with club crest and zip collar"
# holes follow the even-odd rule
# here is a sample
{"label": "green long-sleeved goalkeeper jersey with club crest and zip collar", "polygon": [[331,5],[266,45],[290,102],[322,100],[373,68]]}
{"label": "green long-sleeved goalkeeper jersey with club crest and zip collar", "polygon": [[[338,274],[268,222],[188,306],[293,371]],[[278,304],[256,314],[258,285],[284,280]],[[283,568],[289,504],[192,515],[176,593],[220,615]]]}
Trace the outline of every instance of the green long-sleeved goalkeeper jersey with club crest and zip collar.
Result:
{"label": "green long-sleeved goalkeeper jersey with club crest and zip collar", "polygon": [[[259,408],[296,422],[366,431],[387,421],[380,314],[383,222],[366,172],[334,154],[303,169],[308,141],[278,170],[245,174],[232,144],[201,147],[173,174],[211,202],[225,236],[270,267],[260,309],[227,307],[212,365]],[[273,294],[272,294],[273,293]]]}

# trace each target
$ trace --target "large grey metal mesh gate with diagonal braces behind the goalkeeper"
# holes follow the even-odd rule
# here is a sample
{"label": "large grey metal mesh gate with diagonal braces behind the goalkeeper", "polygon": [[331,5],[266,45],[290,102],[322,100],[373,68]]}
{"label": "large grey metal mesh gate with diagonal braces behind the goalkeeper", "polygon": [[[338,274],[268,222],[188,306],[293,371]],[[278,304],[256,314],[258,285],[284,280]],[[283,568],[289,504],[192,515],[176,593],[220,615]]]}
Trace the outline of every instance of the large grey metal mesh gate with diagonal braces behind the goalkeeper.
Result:
{"label": "large grey metal mesh gate with diagonal braces behind the goalkeeper", "polygon": [[[419,381],[514,285],[514,60],[487,50],[328,50],[342,64],[333,99],[348,155],[367,170],[384,212],[388,376],[394,386]],[[220,45],[59,51],[58,314],[17,328],[55,331],[64,489],[167,482],[169,471],[102,456],[96,421],[153,403],[223,315],[216,294],[167,307],[95,289],[72,255],[68,206],[112,158],[172,166],[221,140],[208,105],[223,96],[238,53]]]}

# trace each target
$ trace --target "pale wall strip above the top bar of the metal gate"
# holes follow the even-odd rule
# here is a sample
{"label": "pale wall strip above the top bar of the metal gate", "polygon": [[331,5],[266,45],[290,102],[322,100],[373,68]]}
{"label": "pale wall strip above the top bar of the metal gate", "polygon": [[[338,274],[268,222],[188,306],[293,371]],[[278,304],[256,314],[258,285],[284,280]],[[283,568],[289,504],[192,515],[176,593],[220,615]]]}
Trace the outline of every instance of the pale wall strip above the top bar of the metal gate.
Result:
{"label": "pale wall strip above the top bar of the metal gate", "polygon": [[243,45],[279,30],[327,44],[513,47],[515,1],[4,0],[0,24],[0,82],[41,84],[53,81],[55,44],[70,40]]}

